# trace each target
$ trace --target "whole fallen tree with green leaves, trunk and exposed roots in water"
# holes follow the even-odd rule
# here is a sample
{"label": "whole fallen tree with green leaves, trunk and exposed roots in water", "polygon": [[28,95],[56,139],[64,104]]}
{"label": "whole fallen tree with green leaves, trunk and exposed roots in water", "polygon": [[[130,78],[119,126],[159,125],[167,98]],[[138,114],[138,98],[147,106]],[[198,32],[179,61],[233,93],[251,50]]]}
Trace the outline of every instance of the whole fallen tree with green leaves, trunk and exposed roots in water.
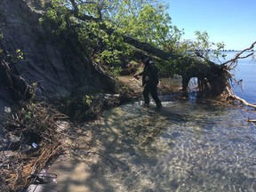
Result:
{"label": "whole fallen tree with green leaves, trunk and exposed roots in water", "polygon": [[[60,6],[62,2],[62,6]],[[171,18],[164,14],[164,6],[158,1],[58,1],[46,6],[44,20],[51,20],[59,33],[75,28],[85,44],[91,44],[92,57],[108,66],[120,66],[126,60],[138,59],[147,53],[156,58],[164,73],[182,76],[182,90],[188,88],[191,77],[197,77],[200,92],[208,96],[241,100],[230,87],[234,76],[231,70],[239,59],[250,57],[254,44],[222,64],[212,62],[209,49],[216,45],[214,57],[220,57],[224,44],[212,44],[207,33],[196,31],[197,42],[180,42],[180,31],[171,25]],[[52,16],[53,15],[53,16]],[[57,17],[56,17],[57,15]],[[58,23],[58,25],[56,25]],[[62,23],[65,28],[60,28]],[[76,27],[75,27],[76,26]],[[57,30],[56,30],[57,31]],[[84,37],[84,38],[83,38]],[[124,56],[125,53],[125,56]]]}

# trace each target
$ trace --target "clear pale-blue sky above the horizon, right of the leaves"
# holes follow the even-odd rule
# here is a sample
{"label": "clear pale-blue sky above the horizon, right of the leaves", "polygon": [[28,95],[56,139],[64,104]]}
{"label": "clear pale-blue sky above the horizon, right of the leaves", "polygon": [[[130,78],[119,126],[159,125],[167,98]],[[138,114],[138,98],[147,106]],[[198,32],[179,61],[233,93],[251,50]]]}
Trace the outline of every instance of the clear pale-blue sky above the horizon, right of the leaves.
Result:
{"label": "clear pale-blue sky above the horizon, right of the leaves", "polygon": [[[206,31],[213,43],[241,51],[256,41],[256,0],[168,0],[172,25],[184,29],[183,39]],[[254,47],[256,50],[256,47]]]}

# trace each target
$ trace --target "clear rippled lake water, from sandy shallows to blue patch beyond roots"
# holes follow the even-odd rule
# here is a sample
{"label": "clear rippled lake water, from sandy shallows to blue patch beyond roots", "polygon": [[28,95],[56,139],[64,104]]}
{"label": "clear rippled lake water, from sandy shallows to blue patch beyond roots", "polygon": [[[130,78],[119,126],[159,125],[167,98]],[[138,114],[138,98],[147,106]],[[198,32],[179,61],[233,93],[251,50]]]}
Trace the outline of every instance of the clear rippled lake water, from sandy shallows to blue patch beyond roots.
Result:
{"label": "clear rippled lake water, from sandy shallows to blue patch beyond roots", "polygon": [[[244,91],[236,93],[256,103],[256,68],[246,60],[236,70],[236,78],[244,79]],[[81,134],[92,132],[96,153],[77,149],[76,157],[60,159],[47,171],[58,175],[57,182],[49,180],[36,190],[256,191],[256,127],[246,122],[247,117],[255,119],[254,110],[193,96],[160,99],[161,109],[153,101],[143,107],[138,100],[84,124]]]}

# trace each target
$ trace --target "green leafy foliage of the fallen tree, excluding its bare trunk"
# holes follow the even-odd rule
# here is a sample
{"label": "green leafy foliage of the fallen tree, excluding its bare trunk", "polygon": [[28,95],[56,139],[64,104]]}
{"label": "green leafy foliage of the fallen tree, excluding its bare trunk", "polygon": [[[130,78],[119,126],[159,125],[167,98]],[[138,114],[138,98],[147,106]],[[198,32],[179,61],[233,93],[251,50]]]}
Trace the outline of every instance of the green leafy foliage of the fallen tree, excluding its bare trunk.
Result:
{"label": "green leafy foliage of the fallen tree, excluding its bare trunk", "polygon": [[[184,31],[172,24],[167,8],[160,0],[52,0],[45,4],[46,17],[41,21],[51,20],[52,33],[65,34],[61,41],[67,40],[67,31],[76,31],[86,55],[115,74],[122,64],[133,60],[134,48],[125,43],[124,36],[176,55],[156,60],[165,75],[184,71],[196,60],[207,63],[224,56],[220,54],[224,44],[211,43],[206,32],[196,31],[196,41],[182,40]],[[210,54],[210,50],[215,51]]]}

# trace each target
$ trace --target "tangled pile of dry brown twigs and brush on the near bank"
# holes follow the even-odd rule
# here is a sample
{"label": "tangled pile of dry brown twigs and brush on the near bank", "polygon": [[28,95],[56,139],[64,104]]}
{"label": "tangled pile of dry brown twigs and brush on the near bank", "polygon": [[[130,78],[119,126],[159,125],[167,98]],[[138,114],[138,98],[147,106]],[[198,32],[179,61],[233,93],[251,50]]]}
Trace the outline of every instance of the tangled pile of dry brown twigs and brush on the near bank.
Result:
{"label": "tangled pile of dry brown twigs and brush on the near bank", "polygon": [[94,154],[113,164],[108,156],[92,150],[91,132],[69,123],[68,116],[46,103],[27,104],[12,118],[4,119],[10,145],[0,151],[0,191],[20,191],[34,182],[44,184],[42,170],[47,171],[60,155],[68,154],[65,157],[71,159],[78,156],[88,164],[87,155]]}

